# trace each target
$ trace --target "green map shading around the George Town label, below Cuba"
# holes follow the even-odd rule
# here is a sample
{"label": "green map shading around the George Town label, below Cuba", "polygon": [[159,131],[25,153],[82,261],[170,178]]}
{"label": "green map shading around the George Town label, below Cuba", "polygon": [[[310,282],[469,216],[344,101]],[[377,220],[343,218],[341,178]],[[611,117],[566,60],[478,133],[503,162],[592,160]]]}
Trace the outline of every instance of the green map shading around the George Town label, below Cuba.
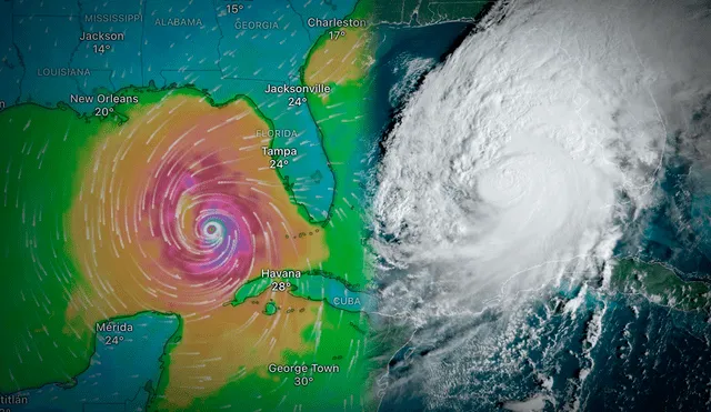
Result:
{"label": "green map shading around the George Town label, below Cuba", "polygon": [[[231,380],[218,393],[196,400],[184,409],[193,411],[362,411],[369,410],[363,396],[368,379],[365,359],[368,320],[361,313],[347,312],[323,305],[321,322],[306,328],[302,333],[309,351],[284,351],[279,364],[318,363],[337,365],[332,373],[270,373],[268,365],[250,370]],[[239,350],[239,349],[236,349]],[[267,345],[264,345],[264,350]],[[241,371],[234,371],[239,375]],[[294,378],[307,378],[307,385],[297,385]],[[313,378],[309,381],[309,378]],[[346,406],[344,406],[346,405]]]}

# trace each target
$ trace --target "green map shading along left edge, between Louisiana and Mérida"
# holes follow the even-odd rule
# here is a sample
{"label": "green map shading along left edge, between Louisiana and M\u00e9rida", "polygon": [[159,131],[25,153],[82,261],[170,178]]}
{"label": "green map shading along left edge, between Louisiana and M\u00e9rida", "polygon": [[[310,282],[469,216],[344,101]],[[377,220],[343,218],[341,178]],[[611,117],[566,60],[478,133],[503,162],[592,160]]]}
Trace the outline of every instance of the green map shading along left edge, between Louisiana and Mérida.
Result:
{"label": "green map shading along left edge, between Louisiana and M\u00e9rida", "polygon": [[80,118],[67,105],[28,103],[0,113],[2,393],[70,382],[93,352],[91,329],[64,320],[83,281],[69,254],[66,214],[83,148],[110,122]]}

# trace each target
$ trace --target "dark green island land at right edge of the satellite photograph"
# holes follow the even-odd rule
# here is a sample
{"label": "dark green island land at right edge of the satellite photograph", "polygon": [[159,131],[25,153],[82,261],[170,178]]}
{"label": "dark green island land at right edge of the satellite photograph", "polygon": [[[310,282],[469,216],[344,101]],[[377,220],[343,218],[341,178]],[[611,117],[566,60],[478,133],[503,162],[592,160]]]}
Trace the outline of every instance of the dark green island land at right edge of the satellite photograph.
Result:
{"label": "dark green island land at right edge of the satellite photograph", "polygon": [[711,309],[711,287],[701,281],[685,281],[661,263],[625,259],[618,261],[610,287],[641,294],[651,302],[682,311]]}

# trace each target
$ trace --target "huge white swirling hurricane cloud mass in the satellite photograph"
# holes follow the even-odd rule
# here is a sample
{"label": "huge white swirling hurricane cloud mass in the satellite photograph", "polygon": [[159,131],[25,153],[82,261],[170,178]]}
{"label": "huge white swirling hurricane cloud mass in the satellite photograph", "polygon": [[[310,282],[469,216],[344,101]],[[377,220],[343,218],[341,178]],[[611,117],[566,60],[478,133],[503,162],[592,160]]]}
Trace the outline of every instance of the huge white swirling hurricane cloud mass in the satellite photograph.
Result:
{"label": "huge white swirling hurricane cloud mass in the satellite photograph", "polygon": [[[708,2],[494,8],[387,140],[374,201],[374,249],[391,268],[381,312],[445,333],[600,275],[621,222],[654,200],[668,138],[711,93],[710,41]],[[452,333],[452,346],[474,333]],[[434,398],[465,370],[429,362]]]}

